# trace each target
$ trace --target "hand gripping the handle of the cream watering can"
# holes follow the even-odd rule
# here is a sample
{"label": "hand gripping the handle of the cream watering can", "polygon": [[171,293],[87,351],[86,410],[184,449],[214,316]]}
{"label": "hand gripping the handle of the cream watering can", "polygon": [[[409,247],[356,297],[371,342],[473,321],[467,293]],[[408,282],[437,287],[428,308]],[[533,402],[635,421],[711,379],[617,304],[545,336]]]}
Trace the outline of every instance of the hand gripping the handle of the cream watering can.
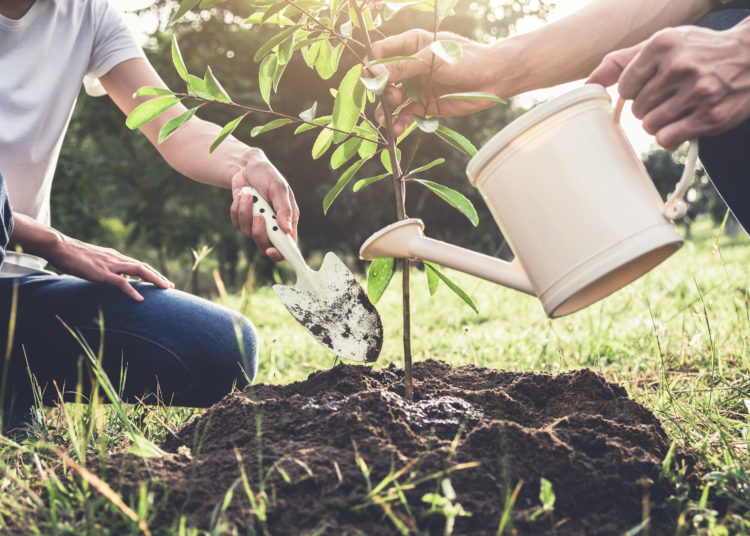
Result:
{"label": "hand gripping the handle of the cream watering can", "polygon": [[750,117],[750,26],[662,30],[607,55],[588,83],[618,83],[633,114],[667,150],[730,130]]}

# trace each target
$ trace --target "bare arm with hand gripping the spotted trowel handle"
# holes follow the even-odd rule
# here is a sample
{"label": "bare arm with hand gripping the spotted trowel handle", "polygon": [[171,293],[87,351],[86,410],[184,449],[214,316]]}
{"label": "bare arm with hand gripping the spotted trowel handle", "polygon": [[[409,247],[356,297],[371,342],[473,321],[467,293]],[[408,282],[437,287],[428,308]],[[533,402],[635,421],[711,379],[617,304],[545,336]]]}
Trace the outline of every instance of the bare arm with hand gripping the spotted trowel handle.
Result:
{"label": "bare arm with hand gripping the spotted trowel handle", "polygon": [[[148,61],[142,58],[118,64],[100,81],[126,115],[147,100],[133,97],[140,87],[166,88]],[[275,261],[281,260],[281,254],[266,236],[263,217],[253,219],[252,196],[239,194],[239,191],[243,186],[256,188],[274,207],[281,229],[296,238],[299,208],[289,184],[263,151],[249,147],[232,136],[209,153],[209,147],[221,128],[195,116],[164,142],[158,143],[159,131],[164,123],[184,111],[186,108],[178,104],[146,123],[140,130],[175,170],[196,181],[231,188],[234,202],[230,212],[234,225],[244,236],[253,238],[261,252]]]}

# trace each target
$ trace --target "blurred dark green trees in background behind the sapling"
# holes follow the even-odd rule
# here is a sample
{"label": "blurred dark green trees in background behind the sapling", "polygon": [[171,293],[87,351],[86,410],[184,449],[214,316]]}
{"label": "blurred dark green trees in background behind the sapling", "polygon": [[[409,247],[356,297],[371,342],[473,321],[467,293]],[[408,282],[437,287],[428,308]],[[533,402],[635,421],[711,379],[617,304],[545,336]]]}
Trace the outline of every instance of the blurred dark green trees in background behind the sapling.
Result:
{"label": "blurred dark green trees in background behind the sapling", "polygon": [[[235,102],[264,108],[258,91],[258,64],[252,57],[274,29],[243,26],[242,20],[253,9],[242,1],[191,13],[167,27],[176,6],[172,0],[157,0],[140,13],[160,21],[144,48],[167,85],[184,90],[171,60],[170,41],[175,33],[190,72],[201,74],[210,65]],[[456,14],[441,29],[491,42],[507,36],[523,17],[545,18],[552,6],[553,2],[547,0],[461,0]],[[397,16],[381,30],[383,35],[392,35],[412,27],[430,28],[431,20],[425,17],[420,20],[413,13]],[[345,56],[342,61],[352,59]],[[339,75],[346,70],[339,69]],[[335,77],[322,81],[301,58],[295,58],[284,73],[278,95],[272,97],[274,109],[296,115],[314,101],[330,102],[328,92],[337,85]],[[510,100],[445,123],[479,147],[524,111]],[[318,115],[326,113],[330,110],[318,109]],[[220,125],[235,117],[232,110],[221,105],[205,106],[199,115]],[[109,99],[81,92],[53,187],[53,225],[76,238],[145,260],[178,286],[200,294],[216,291],[214,271],[230,291],[247,281],[272,282],[273,263],[260,256],[254,244],[243,239],[230,222],[230,192],[186,180],[161,160],[143,135],[128,130],[124,119]],[[302,214],[299,231],[303,253],[309,257],[314,252],[335,250],[347,257],[351,266],[363,269],[364,264],[356,260],[361,243],[396,220],[391,182],[380,181],[357,194],[348,188],[324,215],[323,197],[335,184],[337,174],[326,157],[313,160],[310,155],[317,130],[294,136],[294,129],[286,127],[250,138],[252,126],[268,120],[268,116],[251,116],[235,136],[262,148],[292,185]],[[477,208],[480,223],[478,228],[473,227],[426,189],[407,189],[409,215],[422,218],[430,236],[487,254],[510,256],[492,216],[466,180],[464,169],[469,158],[437,137],[421,138],[414,167],[445,157],[446,163],[424,178],[467,195]],[[681,158],[679,153],[673,156],[658,150],[645,155],[644,162],[663,194],[679,178]],[[374,173],[368,173],[366,165],[358,175]],[[690,221],[699,214],[723,219],[726,209],[705,177],[696,181],[690,199],[691,212],[685,224],[688,232]],[[207,254],[194,267],[199,252]]]}

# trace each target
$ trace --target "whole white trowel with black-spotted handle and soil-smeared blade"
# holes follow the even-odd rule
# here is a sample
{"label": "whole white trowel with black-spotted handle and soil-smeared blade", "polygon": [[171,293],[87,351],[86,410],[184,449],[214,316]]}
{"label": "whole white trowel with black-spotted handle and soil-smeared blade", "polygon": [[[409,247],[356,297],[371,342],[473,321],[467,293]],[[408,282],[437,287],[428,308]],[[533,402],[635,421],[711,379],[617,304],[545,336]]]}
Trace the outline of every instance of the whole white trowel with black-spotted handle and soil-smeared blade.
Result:
{"label": "whole white trowel with black-spotted handle and soil-smeared blade", "polygon": [[383,345],[383,324],[362,286],[346,265],[331,252],[316,272],[307,265],[297,244],[276,223],[276,215],[255,188],[253,216],[266,221],[266,233],[297,274],[294,286],[274,285],[273,290],[297,322],[320,344],[344,359],[371,363]]}

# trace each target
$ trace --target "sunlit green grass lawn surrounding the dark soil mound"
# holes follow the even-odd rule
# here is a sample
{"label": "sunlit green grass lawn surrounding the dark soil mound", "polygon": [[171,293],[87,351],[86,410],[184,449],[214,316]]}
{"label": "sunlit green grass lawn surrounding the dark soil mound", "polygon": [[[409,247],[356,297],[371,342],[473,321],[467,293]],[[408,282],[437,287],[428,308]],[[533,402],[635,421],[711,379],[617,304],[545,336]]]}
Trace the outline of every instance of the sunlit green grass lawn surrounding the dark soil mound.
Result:
{"label": "sunlit green grass lawn surrounding the dark soil mound", "polygon": [[[424,274],[415,270],[414,358],[514,371],[591,367],[601,372],[650,408],[676,443],[702,464],[698,492],[673,498],[682,512],[678,533],[750,533],[745,520],[750,517],[748,266],[746,235],[720,236],[699,222],[693,241],[650,274],[557,320],[549,320],[533,298],[453,272],[479,314],[444,286],[430,299]],[[392,284],[378,305],[386,339],[376,367],[401,361],[398,287]],[[258,326],[257,381],[287,383],[335,363],[270,288],[223,301],[247,312]],[[262,314],[254,314],[258,311]],[[70,460],[80,465],[97,453],[129,447],[134,430],[158,443],[196,410],[126,405],[124,411],[125,418],[112,406],[66,404],[47,409],[31,439],[0,441],[0,533],[142,533],[159,508],[146,490],[127,505],[132,512],[124,513],[103,494],[101,483],[82,476]],[[179,523],[150,530],[198,534]],[[221,526],[212,532],[222,533]]]}

